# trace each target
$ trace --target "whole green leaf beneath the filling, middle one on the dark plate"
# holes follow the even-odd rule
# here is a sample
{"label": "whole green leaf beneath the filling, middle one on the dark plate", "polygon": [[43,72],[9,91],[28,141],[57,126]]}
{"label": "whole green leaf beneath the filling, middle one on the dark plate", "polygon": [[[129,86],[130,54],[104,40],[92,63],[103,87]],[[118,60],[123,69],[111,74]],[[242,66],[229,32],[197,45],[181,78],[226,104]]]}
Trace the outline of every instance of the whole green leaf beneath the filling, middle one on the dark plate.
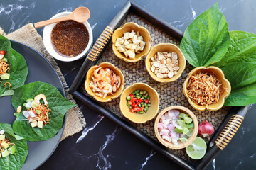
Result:
{"label": "whole green leaf beneath the filling, middle one on the dark plate", "polygon": [[46,126],[43,125],[43,128],[32,128],[30,123],[27,123],[27,121],[24,120],[26,118],[22,111],[26,111],[25,107],[22,108],[21,113],[15,114],[16,120],[13,124],[14,132],[29,141],[48,140],[51,137],[54,137],[60,131],[60,128],[63,127],[65,113],[69,108],[75,106],[75,104],[63,98],[55,86],[39,81],[23,85],[16,89],[11,98],[11,103],[16,110],[18,106],[23,106],[23,103],[26,103],[28,98],[34,98],[38,94],[46,96],[48,107],[50,109],[50,124],[47,124]]}

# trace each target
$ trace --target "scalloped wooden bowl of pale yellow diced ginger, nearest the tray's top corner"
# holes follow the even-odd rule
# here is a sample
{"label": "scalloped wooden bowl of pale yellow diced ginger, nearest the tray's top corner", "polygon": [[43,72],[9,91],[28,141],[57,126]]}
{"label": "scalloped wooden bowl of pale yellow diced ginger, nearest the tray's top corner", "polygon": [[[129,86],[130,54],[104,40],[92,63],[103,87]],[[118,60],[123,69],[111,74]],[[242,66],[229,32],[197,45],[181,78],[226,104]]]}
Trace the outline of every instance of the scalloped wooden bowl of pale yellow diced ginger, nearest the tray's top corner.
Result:
{"label": "scalloped wooden bowl of pale yellow diced ginger, nearest the tray's top corner", "polygon": [[112,35],[114,55],[126,62],[138,62],[149,53],[150,47],[149,31],[137,23],[125,23]]}

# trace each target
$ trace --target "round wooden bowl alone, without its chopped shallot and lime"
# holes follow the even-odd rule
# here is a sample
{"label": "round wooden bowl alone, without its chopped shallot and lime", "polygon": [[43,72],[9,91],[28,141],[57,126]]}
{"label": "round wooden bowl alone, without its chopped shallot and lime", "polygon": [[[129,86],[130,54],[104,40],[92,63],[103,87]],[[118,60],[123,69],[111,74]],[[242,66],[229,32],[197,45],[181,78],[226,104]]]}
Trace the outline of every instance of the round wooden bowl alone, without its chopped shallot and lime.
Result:
{"label": "round wooden bowl alone, without its chopped shallot and lime", "polygon": [[[174,145],[172,142],[163,140],[163,138],[161,138],[161,136],[159,135],[159,130],[157,128],[157,124],[159,123],[161,116],[164,115],[164,113],[166,113],[166,111],[173,110],[173,109],[178,110],[181,113],[188,114],[193,119],[193,124],[194,124],[192,135],[191,135],[191,137],[188,137],[188,141],[183,143],[183,142],[181,142],[181,140],[178,140],[178,145]],[[157,115],[155,123],[154,123],[154,131],[155,131],[157,139],[159,140],[159,142],[161,142],[162,145],[169,147],[170,149],[182,149],[184,147],[187,147],[188,145],[191,145],[193,140],[196,139],[196,136],[198,134],[198,120],[196,119],[196,115],[194,115],[193,112],[190,111],[188,108],[185,108],[183,106],[170,106],[170,107],[162,110],[159,113],[159,115]]]}

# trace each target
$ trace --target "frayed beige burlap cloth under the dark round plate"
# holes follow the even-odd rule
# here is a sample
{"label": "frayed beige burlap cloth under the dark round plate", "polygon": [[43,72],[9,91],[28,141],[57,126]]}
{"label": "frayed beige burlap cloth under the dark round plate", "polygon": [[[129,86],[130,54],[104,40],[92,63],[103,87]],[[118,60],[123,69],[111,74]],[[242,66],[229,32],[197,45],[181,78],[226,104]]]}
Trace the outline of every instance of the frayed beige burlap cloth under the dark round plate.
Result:
{"label": "frayed beige burlap cloth under the dark round plate", "polygon": [[[58,64],[55,62],[54,58],[50,56],[49,53],[46,51],[46,48],[43,45],[42,37],[37,33],[32,23],[28,23],[26,26],[23,26],[22,28],[14,31],[13,33],[9,33],[8,35],[6,35],[4,33],[4,30],[0,28],[0,34],[4,35],[6,38],[9,38],[9,40],[15,40],[18,42],[22,42],[25,45],[28,45],[29,47],[32,47],[36,51],[40,52],[43,57],[46,57],[46,59],[50,62],[50,64],[53,65],[54,69],[58,73],[63,83],[66,97],[69,101],[76,104],[73,96],[68,94],[68,85],[65,81],[63,74],[61,73],[60,68],[58,67]],[[78,106],[70,108],[67,113],[65,130],[61,140],[64,140],[66,137],[80,132],[82,128],[85,128],[85,125],[85,118],[83,117],[80,108],[78,108]]]}

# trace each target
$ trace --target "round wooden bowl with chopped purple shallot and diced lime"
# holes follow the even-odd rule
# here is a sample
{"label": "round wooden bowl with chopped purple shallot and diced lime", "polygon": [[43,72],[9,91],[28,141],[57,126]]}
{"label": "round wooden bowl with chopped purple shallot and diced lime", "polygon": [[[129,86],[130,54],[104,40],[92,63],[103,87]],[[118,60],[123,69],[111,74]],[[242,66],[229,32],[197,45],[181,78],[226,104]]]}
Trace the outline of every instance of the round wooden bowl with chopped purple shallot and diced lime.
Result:
{"label": "round wooden bowl with chopped purple shallot and diced lime", "polygon": [[[182,118],[185,117],[190,118],[191,123],[188,125],[193,124],[193,126],[191,126],[191,128],[189,128],[190,130],[184,135],[184,129],[188,126],[186,122],[183,123],[184,127],[181,130],[182,132],[177,132],[176,128],[182,128],[179,123],[181,123]],[[178,122],[178,120],[181,120],[181,122]],[[156,138],[162,145],[170,149],[182,149],[191,145],[193,140],[196,139],[198,134],[198,120],[196,119],[196,115],[188,108],[183,106],[169,106],[168,108],[164,108],[164,110],[157,115],[154,123],[154,132]]]}

